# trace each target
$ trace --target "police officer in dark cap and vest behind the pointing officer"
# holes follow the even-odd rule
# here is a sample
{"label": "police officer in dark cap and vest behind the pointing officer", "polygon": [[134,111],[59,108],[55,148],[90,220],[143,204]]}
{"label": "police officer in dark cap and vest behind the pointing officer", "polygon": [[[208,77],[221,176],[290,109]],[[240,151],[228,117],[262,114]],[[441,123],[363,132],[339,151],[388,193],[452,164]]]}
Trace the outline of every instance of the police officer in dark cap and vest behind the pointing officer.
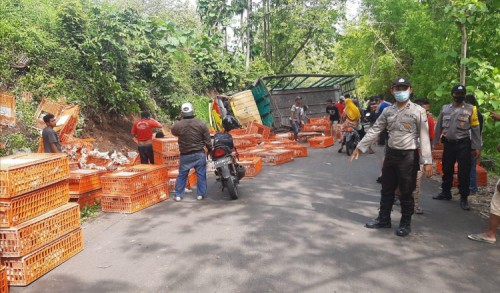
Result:
{"label": "police officer in dark cap and vest behind the pointing officer", "polygon": [[[453,185],[455,162],[458,163],[458,189],[460,191],[460,207],[469,210],[471,156],[476,159],[481,153],[481,132],[477,110],[465,104],[465,86],[456,85],[451,89],[453,102],[444,105],[439,114],[434,134],[434,144],[439,141],[443,150],[443,182],[441,193],[433,196],[437,200],[450,200]],[[442,136],[441,136],[442,134]]]}

